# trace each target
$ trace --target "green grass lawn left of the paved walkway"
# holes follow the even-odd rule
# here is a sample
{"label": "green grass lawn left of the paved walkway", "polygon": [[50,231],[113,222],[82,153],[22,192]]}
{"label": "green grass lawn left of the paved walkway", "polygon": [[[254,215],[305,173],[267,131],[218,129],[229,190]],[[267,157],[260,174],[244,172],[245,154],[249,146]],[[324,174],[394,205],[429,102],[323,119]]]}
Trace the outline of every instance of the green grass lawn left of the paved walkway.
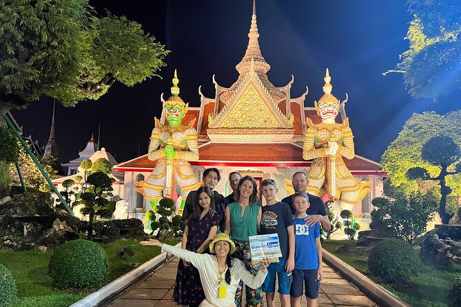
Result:
{"label": "green grass lawn left of the paved walkway", "polygon": [[[178,240],[166,243],[176,244]],[[119,240],[101,246],[109,258],[110,273],[107,283],[160,253],[160,248],[141,246],[139,240]],[[132,249],[134,257],[127,260],[119,258],[117,254],[124,247]],[[52,280],[47,274],[51,255],[52,252],[42,253],[37,250],[13,252],[0,249],[0,264],[11,271],[18,288],[19,298],[13,307],[68,307],[96,290],[75,291],[52,288]]]}

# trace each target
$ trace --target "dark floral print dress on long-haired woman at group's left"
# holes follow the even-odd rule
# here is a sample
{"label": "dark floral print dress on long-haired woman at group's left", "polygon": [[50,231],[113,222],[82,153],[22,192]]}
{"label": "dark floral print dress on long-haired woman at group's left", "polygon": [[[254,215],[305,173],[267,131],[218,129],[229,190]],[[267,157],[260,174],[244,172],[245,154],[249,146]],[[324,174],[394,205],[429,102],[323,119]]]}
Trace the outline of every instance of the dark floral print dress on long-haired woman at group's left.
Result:
{"label": "dark floral print dress on long-haired woman at group's left", "polygon": [[[213,226],[219,226],[220,221],[220,215],[213,210],[209,210],[198,222],[187,220],[186,224],[189,228],[185,246],[187,251],[196,251],[207,240],[209,230]],[[207,249],[205,253],[209,253],[209,250]],[[183,261],[179,260],[173,301],[176,301],[178,305],[196,307],[200,305],[203,299],[205,299],[205,293],[203,293],[198,270],[194,266],[184,266]]]}

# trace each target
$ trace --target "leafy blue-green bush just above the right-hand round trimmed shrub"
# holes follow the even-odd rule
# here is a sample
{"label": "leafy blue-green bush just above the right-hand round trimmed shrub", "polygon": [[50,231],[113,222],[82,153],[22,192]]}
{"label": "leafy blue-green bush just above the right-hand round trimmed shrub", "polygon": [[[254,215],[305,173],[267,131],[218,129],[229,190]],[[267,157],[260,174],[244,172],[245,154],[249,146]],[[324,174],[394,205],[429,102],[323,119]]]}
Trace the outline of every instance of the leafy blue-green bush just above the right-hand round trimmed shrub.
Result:
{"label": "leafy blue-green bush just above the right-hand round trimmed shrub", "polygon": [[409,243],[426,231],[437,207],[435,195],[420,191],[406,195],[399,188],[387,191],[387,195],[374,198],[371,203],[377,209],[371,211],[370,228],[378,229],[385,237]]}

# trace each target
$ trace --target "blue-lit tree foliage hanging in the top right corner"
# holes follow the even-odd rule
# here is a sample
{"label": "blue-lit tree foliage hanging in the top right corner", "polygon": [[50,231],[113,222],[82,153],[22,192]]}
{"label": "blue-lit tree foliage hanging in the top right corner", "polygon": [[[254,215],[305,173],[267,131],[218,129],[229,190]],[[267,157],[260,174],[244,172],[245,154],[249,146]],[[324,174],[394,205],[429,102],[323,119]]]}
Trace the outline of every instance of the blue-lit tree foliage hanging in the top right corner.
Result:
{"label": "blue-lit tree foliage hanging in the top right corner", "polygon": [[[400,54],[396,70],[413,98],[433,98],[461,88],[461,3],[458,0],[408,0],[413,21],[409,50]],[[387,74],[386,72],[385,74]]]}

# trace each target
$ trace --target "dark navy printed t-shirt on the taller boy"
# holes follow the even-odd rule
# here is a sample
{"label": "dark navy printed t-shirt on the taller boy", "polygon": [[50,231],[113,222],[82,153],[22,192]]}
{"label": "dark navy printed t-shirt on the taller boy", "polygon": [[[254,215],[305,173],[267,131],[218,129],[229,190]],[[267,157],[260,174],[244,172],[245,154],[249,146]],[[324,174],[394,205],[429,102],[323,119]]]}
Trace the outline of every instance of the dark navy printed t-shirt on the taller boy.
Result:
{"label": "dark navy printed t-shirt on the taller boy", "polygon": [[277,202],[270,206],[264,206],[262,211],[260,234],[278,233],[280,251],[282,251],[280,261],[287,260],[289,255],[287,227],[293,225],[294,222],[289,205],[285,204],[285,202]]}

